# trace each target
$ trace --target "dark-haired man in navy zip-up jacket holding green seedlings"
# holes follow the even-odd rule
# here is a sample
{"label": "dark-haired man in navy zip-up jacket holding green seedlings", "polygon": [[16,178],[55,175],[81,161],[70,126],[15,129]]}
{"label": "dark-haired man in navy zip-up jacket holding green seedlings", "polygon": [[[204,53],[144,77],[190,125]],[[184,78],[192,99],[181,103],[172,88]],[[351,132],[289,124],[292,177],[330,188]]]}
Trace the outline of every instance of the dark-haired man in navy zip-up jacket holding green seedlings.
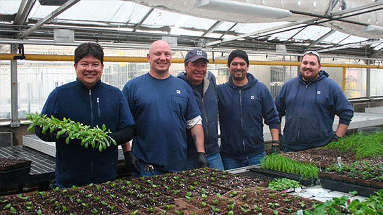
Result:
{"label": "dark-haired man in navy zip-up jacket holding green seedlings", "polygon": [[[101,82],[103,57],[99,44],[79,45],[74,55],[77,80],[54,89],[41,114],[61,120],[70,118],[91,127],[105,124],[113,132],[110,136],[117,144],[127,148],[126,143],[135,134],[133,117],[122,92]],[[60,189],[115,180],[117,146],[111,144],[100,152],[96,148],[81,146],[78,139],[70,140],[69,144],[65,143],[63,135],[56,139],[58,130],[43,134],[42,129],[36,127],[35,131],[42,140],[56,142],[55,181]]]}

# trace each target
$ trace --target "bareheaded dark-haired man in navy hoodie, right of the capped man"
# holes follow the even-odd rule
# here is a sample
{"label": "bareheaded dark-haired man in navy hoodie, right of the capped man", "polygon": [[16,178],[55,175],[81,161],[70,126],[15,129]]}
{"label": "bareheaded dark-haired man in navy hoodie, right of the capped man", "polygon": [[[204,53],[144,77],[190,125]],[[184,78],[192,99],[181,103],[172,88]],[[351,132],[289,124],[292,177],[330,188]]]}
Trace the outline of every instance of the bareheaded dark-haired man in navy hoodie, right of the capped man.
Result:
{"label": "bareheaded dark-haired man in navy hoodie, right of the capped man", "polygon": [[226,170],[259,164],[266,155],[263,119],[270,128],[273,150],[279,151],[278,112],[266,85],[247,73],[246,52],[232,51],[227,67],[229,80],[217,87],[221,157]]}

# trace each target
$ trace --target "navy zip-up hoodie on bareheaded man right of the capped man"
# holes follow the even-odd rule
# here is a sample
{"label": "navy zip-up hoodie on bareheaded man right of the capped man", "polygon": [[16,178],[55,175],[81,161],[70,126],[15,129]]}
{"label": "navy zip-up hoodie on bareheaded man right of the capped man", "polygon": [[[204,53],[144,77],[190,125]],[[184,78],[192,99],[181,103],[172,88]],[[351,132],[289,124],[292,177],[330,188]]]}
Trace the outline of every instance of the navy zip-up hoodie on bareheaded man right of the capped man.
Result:
{"label": "navy zip-up hoodie on bareheaded man right of the capped man", "polygon": [[247,73],[248,83],[238,90],[231,76],[217,86],[221,154],[231,159],[246,159],[265,151],[263,119],[278,128],[279,118],[269,89]]}

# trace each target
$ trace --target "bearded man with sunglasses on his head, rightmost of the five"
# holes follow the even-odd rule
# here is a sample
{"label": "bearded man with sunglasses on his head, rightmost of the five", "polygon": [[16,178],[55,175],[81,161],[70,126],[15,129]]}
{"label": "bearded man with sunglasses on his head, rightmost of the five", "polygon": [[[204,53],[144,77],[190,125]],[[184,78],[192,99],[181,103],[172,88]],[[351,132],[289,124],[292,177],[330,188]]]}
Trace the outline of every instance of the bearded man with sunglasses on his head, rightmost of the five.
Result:
{"label": "bearded man with sunglasses on his head, rightmost of the five", "polygon": [[[286,82],[275,98],[283,129],[285,152],[320,147],[345,135],[354,110],[342,88],[321,70],[318,52],[303,55],[301,73]],[[339,116],[333,131],[334,116]]]}

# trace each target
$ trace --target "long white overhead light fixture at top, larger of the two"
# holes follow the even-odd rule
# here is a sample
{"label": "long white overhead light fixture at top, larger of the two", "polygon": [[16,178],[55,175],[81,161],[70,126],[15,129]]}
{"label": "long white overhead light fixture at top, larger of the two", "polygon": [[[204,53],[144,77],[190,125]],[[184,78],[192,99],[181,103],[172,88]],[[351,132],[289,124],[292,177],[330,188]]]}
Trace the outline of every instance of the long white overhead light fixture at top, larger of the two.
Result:
{"label": "long white overhead light fixture at top, larger of the two", "polygon": [[287,9],[280,9],[234,0],[197,0],[194,7],[275,19],[285,18],[292,15],[290,10]]}

